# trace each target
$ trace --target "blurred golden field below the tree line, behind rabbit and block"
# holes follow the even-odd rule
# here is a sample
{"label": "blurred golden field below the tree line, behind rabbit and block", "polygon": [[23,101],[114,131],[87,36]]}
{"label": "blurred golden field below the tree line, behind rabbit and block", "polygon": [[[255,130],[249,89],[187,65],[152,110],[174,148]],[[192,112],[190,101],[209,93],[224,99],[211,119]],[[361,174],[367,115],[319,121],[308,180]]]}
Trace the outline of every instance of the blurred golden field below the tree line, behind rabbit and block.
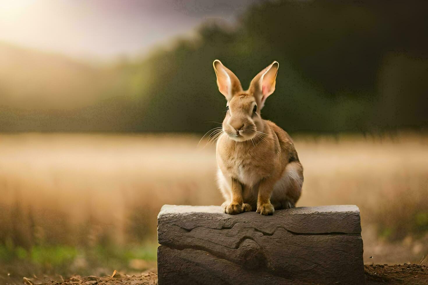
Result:
{"label": "blurred golden field below the tree line, behind rabbit and block", "polygon": [[[223,202],[214,145],[196,147],[199,138],[0,135],[0,279],[153,269],[163,204]],[[305,169],[297,206],[358,205],[366,263],[419,263],[428,254],[427,135],[294,142]]]}

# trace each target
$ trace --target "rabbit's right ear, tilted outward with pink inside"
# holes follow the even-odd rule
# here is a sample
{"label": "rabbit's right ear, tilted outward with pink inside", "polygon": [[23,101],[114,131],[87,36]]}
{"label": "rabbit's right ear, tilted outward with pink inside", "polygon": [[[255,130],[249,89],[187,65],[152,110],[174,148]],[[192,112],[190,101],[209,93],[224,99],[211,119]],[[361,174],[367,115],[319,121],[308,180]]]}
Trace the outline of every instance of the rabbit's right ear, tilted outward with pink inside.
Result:
{"label": "rabbit's right ear, tilted outward with pink inside", "polygon": [[259,98],[262,107],[265,105],[266,98],[275,91],[278,67],[278,62],[272,62],[267,68],[260,71],[259,74],[251,80],[249,90],[253,92],[256,98]]}

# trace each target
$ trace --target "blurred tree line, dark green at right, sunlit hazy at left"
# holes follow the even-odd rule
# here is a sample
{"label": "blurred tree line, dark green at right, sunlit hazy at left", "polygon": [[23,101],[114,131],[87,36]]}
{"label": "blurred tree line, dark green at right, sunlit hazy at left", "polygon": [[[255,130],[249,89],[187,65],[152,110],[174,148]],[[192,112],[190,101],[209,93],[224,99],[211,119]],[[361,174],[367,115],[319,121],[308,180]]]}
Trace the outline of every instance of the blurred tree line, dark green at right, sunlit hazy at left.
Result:
{"label": "blurred tree line, dark green at right, sunlit hazy at left", "polygon": [[[65,91],[51,91],[49,82],[62,86],[82,77],[66,86],[68,99],[62,103],[14,105],[0,98],[0,129],[206,131],[210,125],[204,122],[221,122],[226,110],[214,59],[234,71],[244,89],[278,61],[276,91],[262,113],[287,131],[424,129],[427,8],[422,1],[259,3],[234,26],[208,21],[196,37],[176,40],[145,58],[96,68],[73,65],[77,71],[65,73],[60,83],[46,76],[43,88],[22,91],[57,97]],[[28,62],[23,66],[28,69]],[[11,77],[9,71],[4,76]],[[0,94],[13,94],[12,83],[0,80]],[[76,96],[83,99],[73,105]]]}

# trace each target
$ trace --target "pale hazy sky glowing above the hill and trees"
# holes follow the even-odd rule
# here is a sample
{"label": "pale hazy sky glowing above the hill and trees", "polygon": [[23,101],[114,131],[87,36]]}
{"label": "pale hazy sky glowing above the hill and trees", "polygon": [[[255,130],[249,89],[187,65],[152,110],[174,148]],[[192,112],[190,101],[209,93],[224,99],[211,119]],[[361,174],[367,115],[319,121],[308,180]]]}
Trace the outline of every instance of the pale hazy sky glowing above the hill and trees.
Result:
{"label": "pale hazy sky glowing above the hill and trees", "polygon": [[0,41],[108,57],[148,50],[259,0],[0,0]]}

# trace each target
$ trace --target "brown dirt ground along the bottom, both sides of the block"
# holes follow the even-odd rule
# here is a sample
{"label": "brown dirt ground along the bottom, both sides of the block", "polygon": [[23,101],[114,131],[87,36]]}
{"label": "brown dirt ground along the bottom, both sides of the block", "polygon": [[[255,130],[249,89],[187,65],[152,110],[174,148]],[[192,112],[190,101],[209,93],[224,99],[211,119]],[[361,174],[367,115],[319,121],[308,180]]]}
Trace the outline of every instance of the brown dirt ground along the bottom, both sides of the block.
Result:
{"label": "brown dirt ground along the bottom, both sides of the block", "polygon": [[[366,285],[378,284],[408,284],[423,285],[428,284],[428,267],[418,264],[398,264],[398,265],[381,265],[366,264],[364,265],[366,274]],[[157,285],[158,275],[156,273],[143,273],[140,276],[130,276],[116,273],[113,277],[96,277],[79,275],[71,276],[70,279],[62,281],[42,280],[37,277],[24,278],[23,283],[26,285]],[[15,284],[15,283],[6,283]]]}

